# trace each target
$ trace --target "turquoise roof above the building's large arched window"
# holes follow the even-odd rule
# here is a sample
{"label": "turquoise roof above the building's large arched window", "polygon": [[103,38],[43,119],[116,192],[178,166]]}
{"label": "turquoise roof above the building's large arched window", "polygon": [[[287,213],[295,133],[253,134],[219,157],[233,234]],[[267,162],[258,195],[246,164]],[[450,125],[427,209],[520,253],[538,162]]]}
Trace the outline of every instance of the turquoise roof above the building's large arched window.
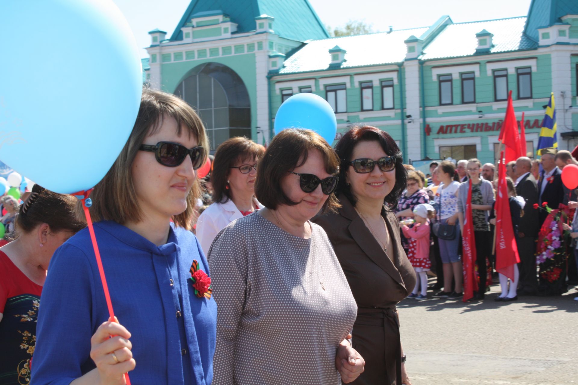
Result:
{"label": "turquoise roof above the building's large arched window", "polygon": [[222,10],[238,24],[238,32],[255,31],[255,17],[275,17],[273,29],[283,38],[305,42],[329,37],[323,23],[307,0],[192,0],[171,40],[183,40],[181,28],[199,12]]}

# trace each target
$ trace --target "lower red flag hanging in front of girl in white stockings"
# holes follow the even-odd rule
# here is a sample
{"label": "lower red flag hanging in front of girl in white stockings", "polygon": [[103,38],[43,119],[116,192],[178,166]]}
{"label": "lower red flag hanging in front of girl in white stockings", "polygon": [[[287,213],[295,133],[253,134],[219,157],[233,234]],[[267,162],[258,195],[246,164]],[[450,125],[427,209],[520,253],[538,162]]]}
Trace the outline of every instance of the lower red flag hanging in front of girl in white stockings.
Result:
{"label": "lower red flag hanging in front of girl in white stockings", "polygon": [[[518,246],[512,226],[510,201],[507,194],[504,152],[498,164],[498,190],[496,194],[496,271],[514,281],[514,264],[520,263]],[[518,282],[514,282],[516,285]]]}

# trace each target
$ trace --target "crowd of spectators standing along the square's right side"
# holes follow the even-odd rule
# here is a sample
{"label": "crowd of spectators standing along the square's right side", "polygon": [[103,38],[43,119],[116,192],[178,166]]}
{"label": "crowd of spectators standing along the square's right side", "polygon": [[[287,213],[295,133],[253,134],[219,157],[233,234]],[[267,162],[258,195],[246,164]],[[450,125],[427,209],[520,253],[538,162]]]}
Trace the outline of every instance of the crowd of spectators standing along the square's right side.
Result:
{"label": "crowd of spectators standing along the square's right side", "polygon": [[[429,232],[429,274],[437,277],[437,282],[429,287],[433,290],[432,297],[455,300],[463,295],[460,235],[463,233],[468,199],[472,205],[479,286],[475,300],[484,299],[486,291],[489,291],[488,286],[493,283],[492,276],[498,278],[502,290],[495,298],[496,301],[513,301],[517,300],[518,296],[560,295],[568,291],[569,285],[577,285],[578,244],[574,240],[578,237],[578,220],[573,216],[578,205],[576,190],[566,188],[561,179],[562,169],[570,164],[578,165],[578,162],[569,151],[545,148],[540,151],[540,160],[523,156],[506,165],[510,214],[520,256],[520,263],[514,266],[514,279],[508,279],[495,271],[495,252],[492,249],[495,243],[494,204],[498,177],[495,165],[481,165],[477,159],[458,160],[455,165],[444,160],[439,163],[432,162],[429,173],[425,175],[421,171],[413,170],[412,166],[405,165],[408,182],[395,210],[396,215],[403,222],[407,216],[412,216],[412,210],[420,204],[431,204],[436,215],[430,222],[432,225],[439,223],[439,228],[450,233],[450,236],[438,236],[439,234],[433,231]],[[468,198],[470,182],[472,195]],[[550,215],[551,220],[566,231],[559,237],[560,246],[557,248],[562,250],[555,253],[554,258],[550,258],[557,260],[551,262],[557,265],[554,268],[539,258],[540,250],[543,249],[540,244],[544,237],[549,237],[552,230],[551,226],[543,225],[553,210],[557,210],[561,215]],[[563,218],[560,218],[561,216]],[[417,226],[423,223],[421,218],[414,218]],[[547,222],[549,223],[550,221]],[[409,228],[407,227],[407,230]],[[412,242],[416,241],[411,239],[415,236],[407,230],[404,231],[407,238],[403,244],[409,256],[415,253]],[[407,242],[410,242],[409,246]],[[414,267],[416,272],[424,269],[423,263],[414,264]],[[427,298],[424,291],[420,296],[417,296],[417,290],[414,290],[413,294],[410,298]],[[578,301],[578,297],[575,300]]]}

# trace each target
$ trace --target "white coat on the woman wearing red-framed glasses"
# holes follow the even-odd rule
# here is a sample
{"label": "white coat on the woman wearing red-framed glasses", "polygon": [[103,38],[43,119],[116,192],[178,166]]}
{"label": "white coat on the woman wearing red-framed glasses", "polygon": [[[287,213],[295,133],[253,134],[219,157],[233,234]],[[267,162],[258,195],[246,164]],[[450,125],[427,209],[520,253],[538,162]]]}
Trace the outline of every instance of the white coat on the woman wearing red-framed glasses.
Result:
{"label": "white coat on the woman wearing red-framed glasses", "polygon": [[[253,204],[258,208],[263,207],[254,197]],[[196,234],[205,256],[208,255],[209,248],[217,234],[229,223],[239,218],[243,218],[243,214],[230,199],[225,203],[212,203],[201,213],[197,219]]]}

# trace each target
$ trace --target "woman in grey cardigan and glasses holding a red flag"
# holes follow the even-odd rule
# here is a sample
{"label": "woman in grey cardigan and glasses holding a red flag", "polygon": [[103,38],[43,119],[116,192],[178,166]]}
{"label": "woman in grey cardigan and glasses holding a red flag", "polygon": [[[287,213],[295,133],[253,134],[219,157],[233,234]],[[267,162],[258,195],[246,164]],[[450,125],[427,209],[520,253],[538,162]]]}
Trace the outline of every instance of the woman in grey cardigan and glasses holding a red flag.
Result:
{"label": "woman in grey cardigan and glasses holding a red flag", "polygon": [[[474,287],[470,285],[468,288],[468,281],[470,284],[473,283],[468,280],[468,276],[475,277],[473,275],[473,260],[476,260],[477,272],[480,278],[479,289],[473,297],[477,300],[483,300],[484,293],[486,293],[487,260],[491,255],[488,211],[492,210],[492,203],[494,203],[494,189],[491,182],[480,178],[481,162],[475,158],[469,159],[467,170],[469,180],[462,183],[458,190],[458,212],[460,213],[460,226],[463,234],[462,244],[464,246],[464,301],[473,296]],[[468,220],[469,218],[472,218],[472,220]],[[469,258],[471,258],[470,262],[472,264],[468,263]],[[472,290],[471,295],[468,295],[469,290]]]}

